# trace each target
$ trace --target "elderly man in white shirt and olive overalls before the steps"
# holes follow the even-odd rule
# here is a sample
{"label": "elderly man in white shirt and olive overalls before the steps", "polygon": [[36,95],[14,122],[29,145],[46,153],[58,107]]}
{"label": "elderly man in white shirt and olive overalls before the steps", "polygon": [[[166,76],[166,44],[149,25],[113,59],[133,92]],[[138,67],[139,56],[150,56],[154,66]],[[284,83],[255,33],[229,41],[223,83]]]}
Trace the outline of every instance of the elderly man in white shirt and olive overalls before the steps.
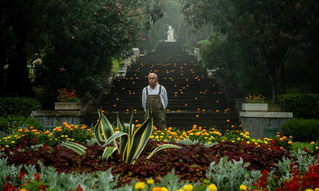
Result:
{"label": "elderly man in white shirt and olive overalls before the steps", "polygon": [[142,105],[145,111],[145,121],[147,120],[148,105],[151,104],[151,108],[154,109],[153,125],[158,130],[164,130],[166,128],[165,108],[167,107],[167,92],[162,85],[157,84],[157,80],[156,74],[150,73],[148,75],[148,83],[150,85],[143,89]]}

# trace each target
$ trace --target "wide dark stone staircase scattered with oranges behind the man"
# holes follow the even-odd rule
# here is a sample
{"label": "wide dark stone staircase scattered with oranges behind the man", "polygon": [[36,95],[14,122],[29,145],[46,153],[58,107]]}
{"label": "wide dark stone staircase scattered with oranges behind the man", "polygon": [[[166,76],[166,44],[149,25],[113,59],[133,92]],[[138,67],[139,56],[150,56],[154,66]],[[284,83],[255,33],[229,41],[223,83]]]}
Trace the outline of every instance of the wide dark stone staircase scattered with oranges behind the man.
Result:
{"label": "wide dark stone staircase scattered with oranges behind the man", "polygon": [[[137,63],[131,65],[126,79],[114,80],[111,92],[104,95],[100,103],[111,123],[116,121],[117,114],[121,122],[129,123],[132,107],[133,123],[144,122],[142,90],[148,85],[147,76],[151,72],[157,74],[159,84],[167,90],[167,127],[192,129],[196,124],[197,127],[213,127],[221,132],[242,129],[239,128],[238,112],[229,107],[217,80],[208,78],[194,55],[182,53],[176,42],[160,42],[156,53],[140,56]],[[97,119],[97,112],[88,113],[85,124],[95,125]]]}

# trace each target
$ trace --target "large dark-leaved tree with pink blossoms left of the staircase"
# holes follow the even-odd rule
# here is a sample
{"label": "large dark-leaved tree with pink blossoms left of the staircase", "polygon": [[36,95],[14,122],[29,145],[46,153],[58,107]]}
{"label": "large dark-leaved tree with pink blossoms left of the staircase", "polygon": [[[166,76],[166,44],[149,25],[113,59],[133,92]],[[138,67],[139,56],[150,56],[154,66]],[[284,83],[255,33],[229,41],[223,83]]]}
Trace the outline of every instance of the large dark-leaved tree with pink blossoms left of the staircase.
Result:
{"label": "large dark-leaved tree with pink blossoms left of the staircase", "polygon": [[141,29],[164,14],[159,0],[62,1],[49,25],[42,60],[45,95],[53,101],[61,87],[79,95],[100,89],[102,72],[110,71],[114,59],[129,57],[131,47],[145,40]]}

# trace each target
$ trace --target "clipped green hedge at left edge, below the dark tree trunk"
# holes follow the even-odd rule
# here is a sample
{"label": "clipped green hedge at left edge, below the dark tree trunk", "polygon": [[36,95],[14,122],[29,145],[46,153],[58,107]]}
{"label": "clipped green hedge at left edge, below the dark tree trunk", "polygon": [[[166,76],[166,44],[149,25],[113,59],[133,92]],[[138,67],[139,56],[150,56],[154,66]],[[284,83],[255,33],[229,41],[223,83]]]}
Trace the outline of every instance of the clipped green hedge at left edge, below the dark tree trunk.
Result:
{"label": "clipped green hedge at left edge, below the dark tree trunk", "polygon": [[33,98],[0,98],[0,116],[28,117],[31,111],[41,110],[41,103]]}

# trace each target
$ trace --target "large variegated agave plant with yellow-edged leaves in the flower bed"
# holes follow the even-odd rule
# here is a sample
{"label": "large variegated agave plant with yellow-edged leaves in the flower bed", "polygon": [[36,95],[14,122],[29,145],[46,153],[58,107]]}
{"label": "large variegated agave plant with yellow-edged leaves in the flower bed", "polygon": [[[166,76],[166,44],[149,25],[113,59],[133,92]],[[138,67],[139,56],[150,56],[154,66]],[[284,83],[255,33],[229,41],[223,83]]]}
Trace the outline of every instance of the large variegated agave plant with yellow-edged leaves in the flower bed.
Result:
{"label": "large variegated agave plant with yellow-edged leaves in the flower bed", "polygon": [[[132,109],[133,111],[133,109]],[[114,133],[113,127],[108,121],[108,119],[104,116],[103,113],[99,110],[98,113],[100,115],[99,122],[94,127],[94,136],[96,142],[101,146],[105,147],[107,144],[112,144],[113,146],[106,147],[103,155],[102,160],[106,161],[108,157],[115,151],[119,152],[122,155],[123,161],[128,161],[131,164],[134,164],[134,159],[137,159],[138,156],[143,151],[148,139],[152,135],[153,130],[153,120],[152,115],[153,112],[151,107],[148,110],[148,118],[147,120],[133,133],[134,124],[133,121],[133,112],[131,116],[130,123],[124,123],[123,127],[120,123],[119,116],[117,115],[117,127],[118,131]],[[101,126],[103,137],[102,138],[99,127]],[[115,141],[116,138],[119,137],[120,147],[118,148],[117,143]],[[105,141],[106,142],[105,142]],[[86,147],[72,142],[66,142],[64,144],[60,144],[62,146],[66,146],[73,151],[77,152],[78,154],[84,154]],[[180,149],[180,146],[174,144],[162,144],[154,149],[147,158],[151,158],[157,151],[166,149],[166,148],[176,148]]]}

